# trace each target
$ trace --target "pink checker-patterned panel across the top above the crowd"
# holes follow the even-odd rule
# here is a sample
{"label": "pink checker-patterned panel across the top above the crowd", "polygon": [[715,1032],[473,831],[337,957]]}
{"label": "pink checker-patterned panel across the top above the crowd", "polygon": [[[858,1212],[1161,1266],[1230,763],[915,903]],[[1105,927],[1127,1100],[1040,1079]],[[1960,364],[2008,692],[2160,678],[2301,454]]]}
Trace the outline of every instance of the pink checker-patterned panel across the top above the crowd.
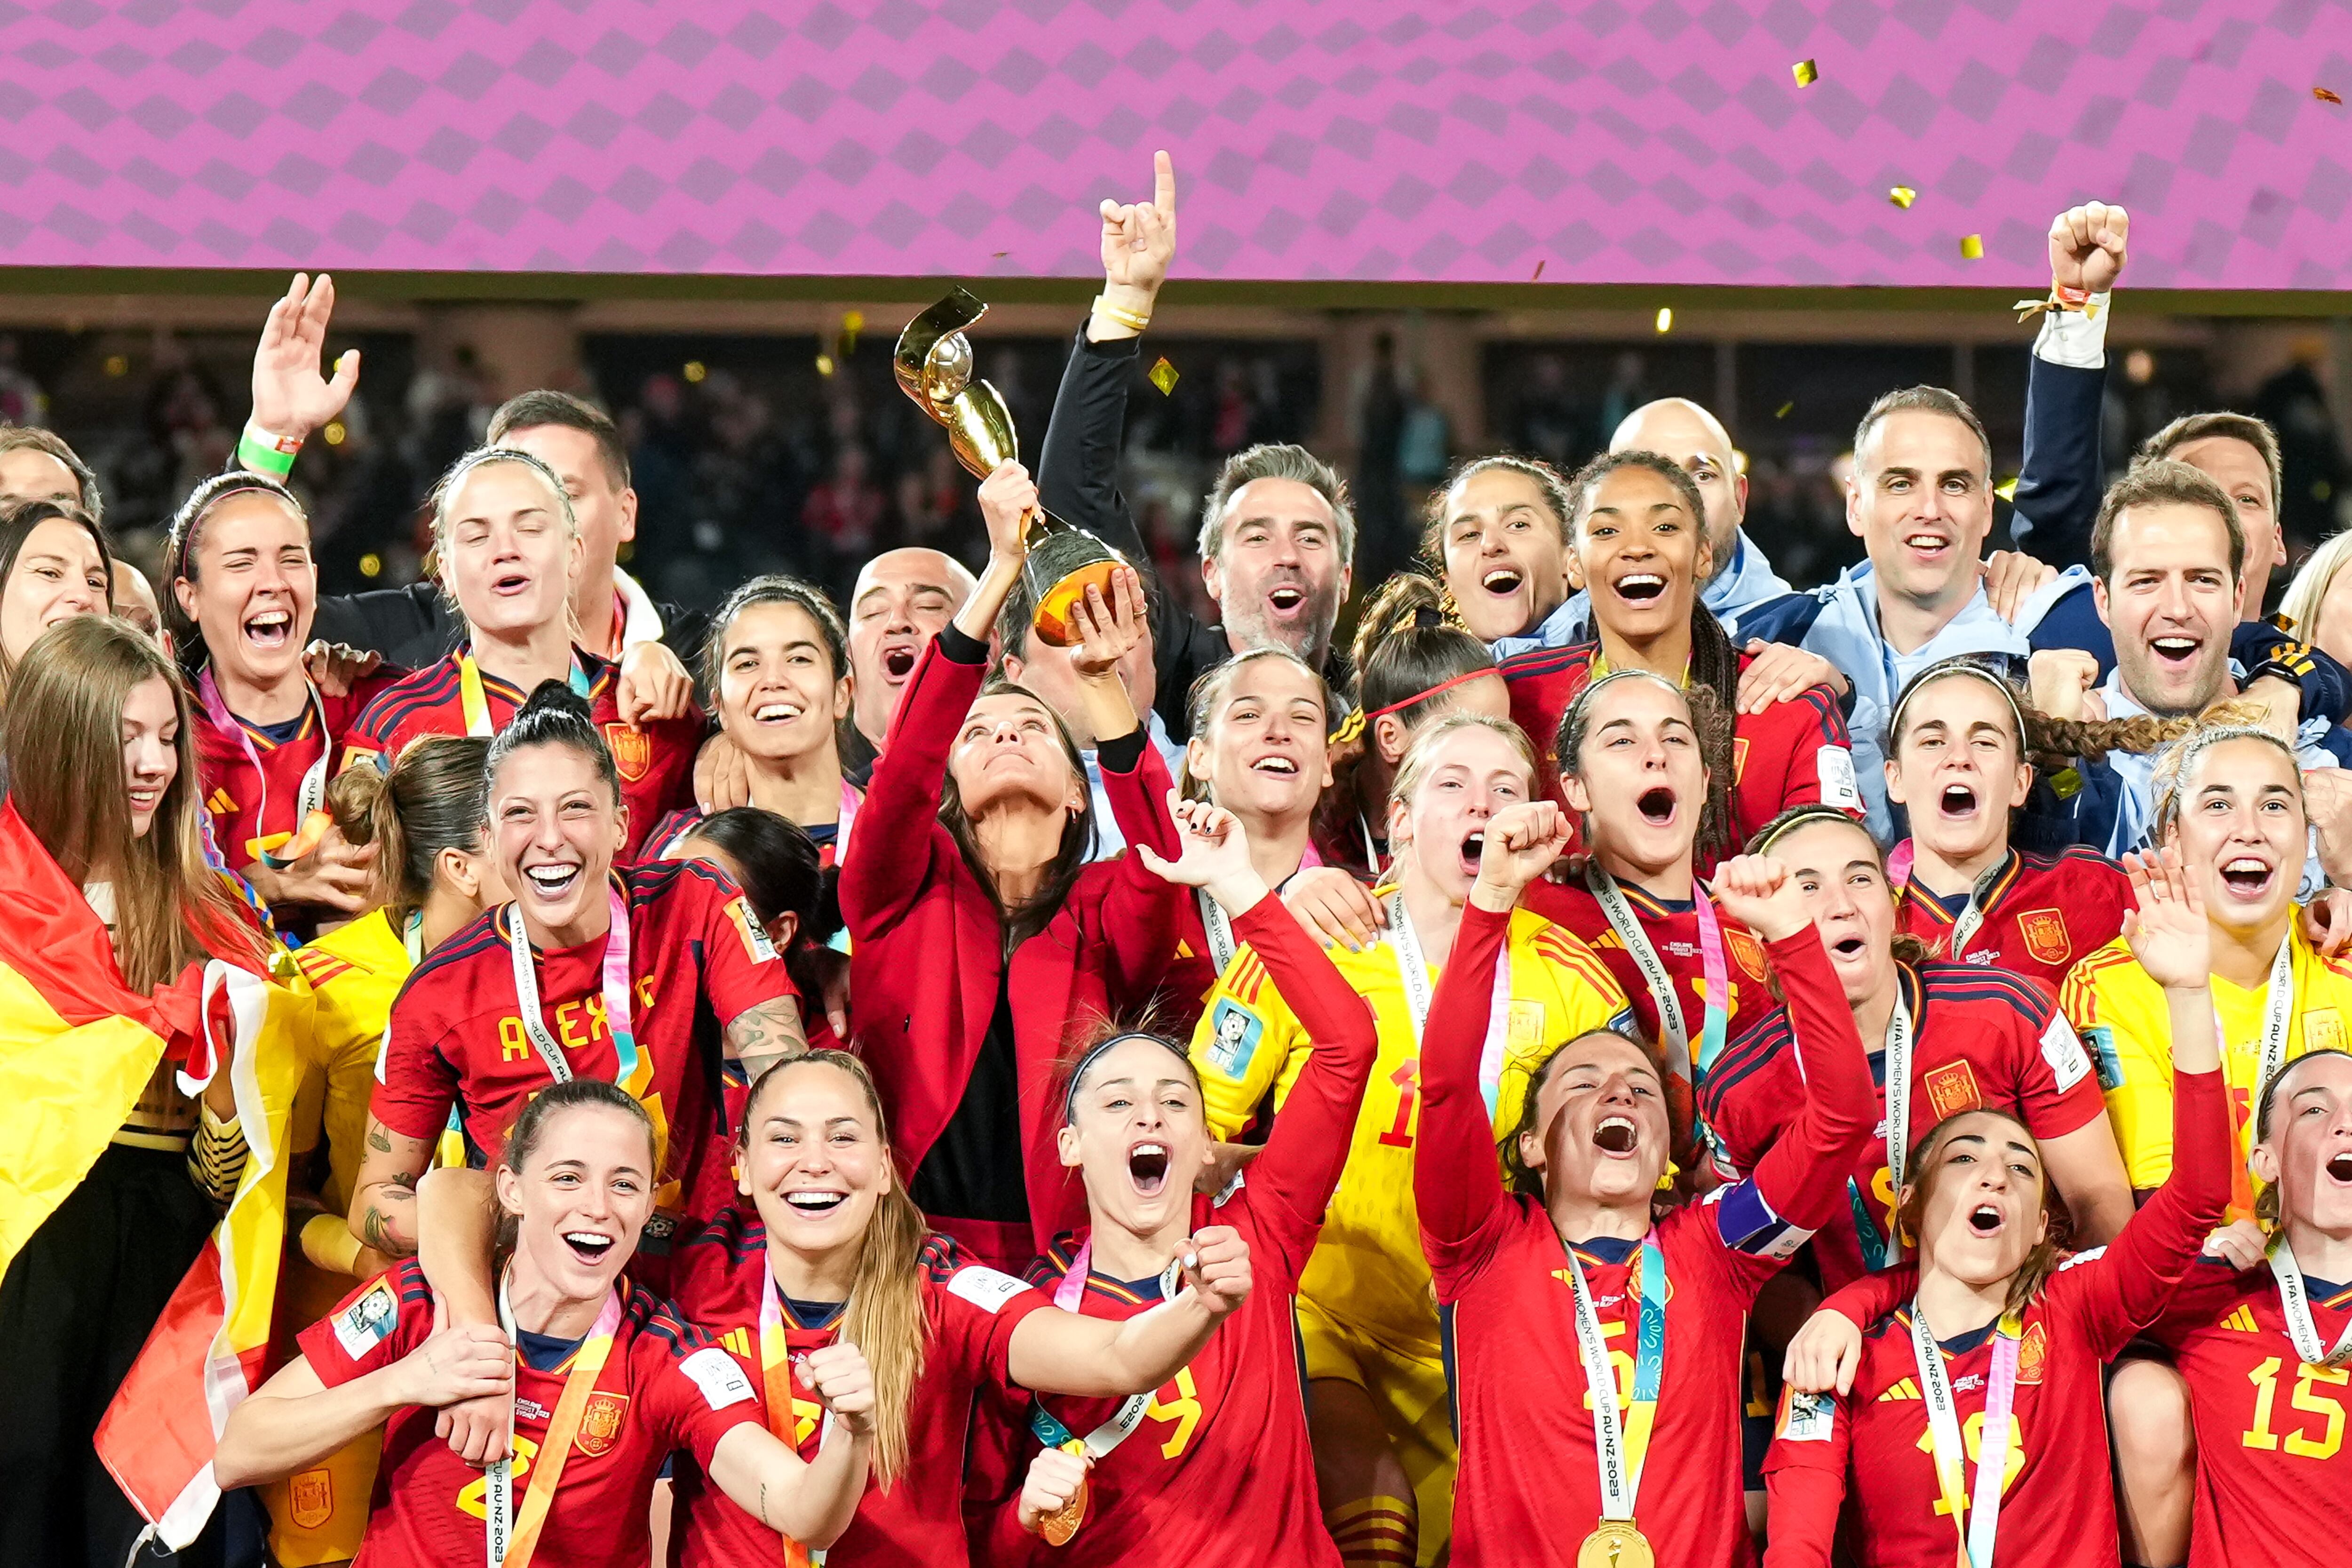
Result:
{"label": "pink checker-patterned panel across the top above the crowd", "polygon": [[2347,12],[0,0],[0,263],[1089,275],[1167,146],[1195,277],[2039,287],[2100,195],[2136,284],[2331,289]]}

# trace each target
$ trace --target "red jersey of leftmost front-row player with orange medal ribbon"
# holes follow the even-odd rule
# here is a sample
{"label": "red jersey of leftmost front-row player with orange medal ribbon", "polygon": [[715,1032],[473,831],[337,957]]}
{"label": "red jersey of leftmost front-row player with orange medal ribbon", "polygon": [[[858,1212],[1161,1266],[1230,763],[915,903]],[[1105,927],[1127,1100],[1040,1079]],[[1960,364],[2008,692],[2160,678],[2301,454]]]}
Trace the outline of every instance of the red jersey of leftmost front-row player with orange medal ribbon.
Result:
{"label": "red jersey of leftmost front-row player with orange medal ribbon", "polygon": [[[301,1354],[332,1389],[400,1361],[430,1333],[433,1288],[409,1258],[303,1328]],[[569,1371],[569,1359],[555,1371],[515,1363],[517,1516]],[[621,1328],[588,1394],[534,1561],[567,1568],[644,1563],[652,1552],[647,1505],[661,1462],[682,1448],[708,1465],[722,1436],[760,1420],[753,1385],[755,1378],[715,1340],[623,1279]],[[407,1406],[383,1427],[383,1462],[360,1544],[367,1568],[482,1561],[485,1479],[433,1436],[435,1415],[426,1406]],[[769,1533],[764,1556],[774,1561],[776,1552],[776,1535]]]}

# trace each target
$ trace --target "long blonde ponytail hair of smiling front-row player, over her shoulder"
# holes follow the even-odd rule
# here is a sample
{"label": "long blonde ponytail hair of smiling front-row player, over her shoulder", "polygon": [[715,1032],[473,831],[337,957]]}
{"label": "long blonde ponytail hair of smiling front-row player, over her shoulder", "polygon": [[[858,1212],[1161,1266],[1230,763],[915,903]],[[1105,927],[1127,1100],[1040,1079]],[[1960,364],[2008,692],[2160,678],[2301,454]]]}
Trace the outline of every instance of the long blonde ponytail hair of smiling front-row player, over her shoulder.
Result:
{"label": "long blonde ponytail hair of smiling front-row player, over her shoulder", "polygon": [[[750,1086],[743,1103],[743,1126],[736,1128],[736,1150],[750,1147],[753,1112],[767,1086],[795,1067],[835,1067],[856,1079],[866,1095],[866,1110],[875,1119],[875,1135],[882,1140],[882,1159],[889,1161],[889,1119],[882,1114],[882,1095],[866,1072],[866,1063],[847,1051],[809,1051],[776,1063]],[[915,1208],[906,1182],[891,1171],[889,1192],[875,1199],[875,1213],[866,1220],[866,1239],[858,1244],[858,1272],[849,1286],[849,1302],[842,1305],[840,1340],[866,1352],[866,1366],[875,1378],[875,1483],[884,1490],[898,1479],[908,1460],[906,1418],[915,1401],[915,1385],[922,1380],[922,1356],[929,1342],[929,1319],[922,1312],[922,1248],[931,1227]],[[760,1265],[767,1267],[767,1265]]]}

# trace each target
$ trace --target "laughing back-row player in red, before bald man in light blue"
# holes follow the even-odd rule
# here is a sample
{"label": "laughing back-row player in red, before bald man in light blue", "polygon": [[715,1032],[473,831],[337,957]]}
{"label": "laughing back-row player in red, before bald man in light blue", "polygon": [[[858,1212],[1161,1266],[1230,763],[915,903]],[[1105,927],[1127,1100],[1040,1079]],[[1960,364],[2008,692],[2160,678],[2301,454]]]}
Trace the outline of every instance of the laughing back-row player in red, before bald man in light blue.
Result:
{"label": "laughing back-row player in red, before bald man in light blue", "polygon": [[[1592,595],[1592,639],[1503,663],[1519,726],[1555,736],[1569,701],[1609,670],[1642,668],[1677,686],[1705,686],[1736,719],[1705,755],[1708,773],[1731,780],[1731,802],[1700,823],[1700,870],[1790,806],[1858,811],[1839,675],[1811,654],[1736,651],[1698,597],[1712,555],[1691,475],[1656,451],[1611,451],[1578,470],[1573,494],[1569,581]],[[1764,658],[1771,665],[1750,677]],[[1557,790],[1550,766],[1545,790]]]}

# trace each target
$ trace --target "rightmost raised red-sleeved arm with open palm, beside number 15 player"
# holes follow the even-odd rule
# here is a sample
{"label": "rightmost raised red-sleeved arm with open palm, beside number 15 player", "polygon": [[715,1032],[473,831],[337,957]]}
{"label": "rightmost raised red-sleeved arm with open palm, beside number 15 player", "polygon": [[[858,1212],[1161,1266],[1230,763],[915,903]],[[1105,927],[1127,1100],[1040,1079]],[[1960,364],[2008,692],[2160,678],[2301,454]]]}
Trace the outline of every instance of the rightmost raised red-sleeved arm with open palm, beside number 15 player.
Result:
{"label": "rightmost raised red-sleeved arm with open palm, beside number 15 player", "polygon": [[2131,957],[2164,987],[2173,1037],[2173,1171],[2086,1269],[2084,1316],[2100,1354],[2157,1321],[2180,1274],[2230,1208],[2230,1091],[2213,1023],[2211,936],[2197,877],[2178,851],[2126,856],[2136,910],[2124,912]]}

